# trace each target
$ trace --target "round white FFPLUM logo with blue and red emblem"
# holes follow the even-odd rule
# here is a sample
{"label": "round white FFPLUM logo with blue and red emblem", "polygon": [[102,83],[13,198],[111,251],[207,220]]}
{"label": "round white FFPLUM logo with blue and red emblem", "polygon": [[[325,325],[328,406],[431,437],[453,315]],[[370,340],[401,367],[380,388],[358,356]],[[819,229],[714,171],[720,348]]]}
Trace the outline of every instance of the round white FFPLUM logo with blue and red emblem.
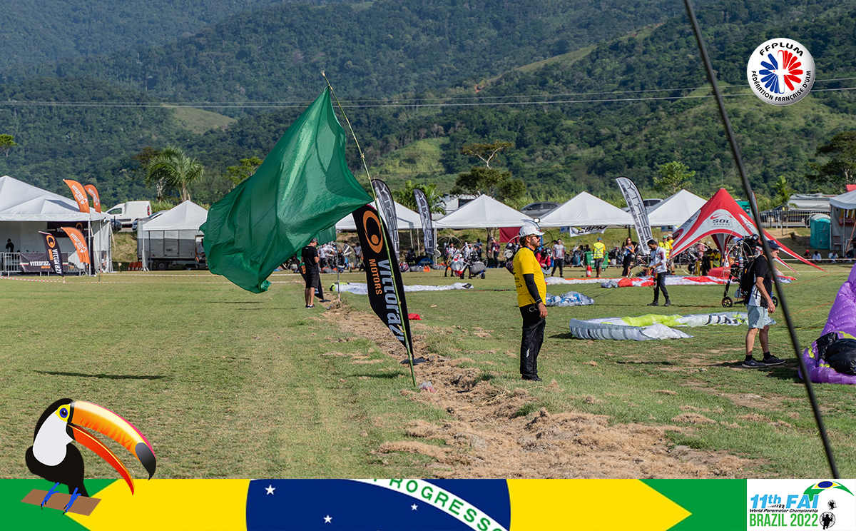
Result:
{"label": "round white FFPLUM logo with blue and red emblem", "polygon": [[814,58],[795,40],[770,39],[749,57],[746,77],[758,98],[768,104],[795,104],[811,92]]}

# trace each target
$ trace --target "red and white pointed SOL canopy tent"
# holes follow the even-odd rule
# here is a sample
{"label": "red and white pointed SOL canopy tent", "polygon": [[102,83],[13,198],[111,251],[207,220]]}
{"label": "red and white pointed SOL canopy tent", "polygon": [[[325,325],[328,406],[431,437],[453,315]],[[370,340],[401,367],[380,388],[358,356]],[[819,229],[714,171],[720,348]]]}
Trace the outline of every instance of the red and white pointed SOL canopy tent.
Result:
{"label": "red and white pointed SOL canopy tent", "polygon": [[[734,198],[725,190],[720,188],[713,197],[698,209],[698,212],[693,214],[692,218],[681,225],[681,228],[675,230],[672,236],[675,237],[675,242],[672,245],[672,256],[681,254],[687,248],[690,248],[694,243],[703,240],[706,237],[711,237],[716,242],[716,247],[720,253],[725,255],[728,244],[734,238],[743,238],[758,234],[758,229],[746,212],[737,204]],[[776,242],[782,248],[783,253],[793,256],[795,259],[805,262],[812,267],[823,271],[823,268],[815,266],[810,261],[805,260],[799,254],[782,245],[782,242],[776,241],[764,230],[764,236],[771,242]],[[779,260],[783,266],[793,270],[782,260]]]}

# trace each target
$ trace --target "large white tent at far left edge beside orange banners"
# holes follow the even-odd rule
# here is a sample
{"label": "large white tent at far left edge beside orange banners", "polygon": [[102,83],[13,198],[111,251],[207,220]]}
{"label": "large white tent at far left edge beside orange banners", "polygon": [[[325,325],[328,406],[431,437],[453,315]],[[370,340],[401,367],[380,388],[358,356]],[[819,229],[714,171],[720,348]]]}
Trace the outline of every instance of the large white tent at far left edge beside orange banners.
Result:
{"label": "large white tent at far left edge beside orange banners", "polygon": [[[10,176],[0,177],[0,251],[6,240],[15,244],[15,252],[44,253],[45,241],[39,231],[58,226],[74,227],[81,232],[92,220],[92,250],[103,271],[112,271],[110,219],[104,214],[80,212],[77,202],[19,181]],[[68,261],[80,267],[72,243],[62,230],[56,233],[60,252],[68,253]]]}

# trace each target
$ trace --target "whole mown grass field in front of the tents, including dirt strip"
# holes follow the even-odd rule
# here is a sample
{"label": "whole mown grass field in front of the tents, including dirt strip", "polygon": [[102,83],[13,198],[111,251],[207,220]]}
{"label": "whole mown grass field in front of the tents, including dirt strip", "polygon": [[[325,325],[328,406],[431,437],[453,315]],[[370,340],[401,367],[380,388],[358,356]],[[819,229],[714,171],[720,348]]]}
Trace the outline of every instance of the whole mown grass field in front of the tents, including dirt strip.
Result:
{"label": "whole mown grass field in front of the tents, including dirt strip", "polygon": [[[828,269],[800,271],[786,287],[803,345],[819,335],[849,266]],[[299,277],[270,279],[261,295],[189,271],[0,280],[0,476],[31,477],[23,456],[34,423],[61,397],[133,422],[161,478],[829,475],[778,313],[770,342],[788,363],[746,370],[742,327],[663,342],[573,339],[568,319],[648,313],[651,289],[550,287],[596,304],[550,308],[544,381],[522,382],[513,282],[489,270],[475,289],[407,295],[422,317],[413,321],[419,355],[430,360],[417,366],[417,383],[431,380],[431,394],[413,390],[398,363],[403,349],[365,296],[311,310]],[[405,282],[453,279],[432,271]],[[722,287],[669,291],[669,313],[722,309]],[[853,477],[853,389],[815,389],[841,475]],[[145,477],[126,450],[116,453]],[[85,459],[87,477],[116,477],[91,453]]]}

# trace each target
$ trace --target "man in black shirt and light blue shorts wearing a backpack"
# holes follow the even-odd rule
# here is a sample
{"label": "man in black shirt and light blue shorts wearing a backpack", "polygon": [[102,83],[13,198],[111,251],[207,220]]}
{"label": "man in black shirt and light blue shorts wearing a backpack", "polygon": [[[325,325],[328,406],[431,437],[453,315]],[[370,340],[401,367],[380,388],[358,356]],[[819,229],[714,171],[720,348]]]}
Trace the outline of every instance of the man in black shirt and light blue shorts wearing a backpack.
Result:
{"label": "man in black shirt and light blue shorts wearing a backpack", "polygon": [[[767,242],[767,245],[770,246],[770,255],[773,260],[776,260],[781,248],[771,240]],[[740,277],[740,290],[744,291],[744,284],[752,282],[749,280],[750,278],[754,279],[754,282],[752,282],[751,288],[746,286],[746,291],[749,292],[746,299],[746,310],[749,313],[749,331],[746,332],[746,360],[743,361],[743,367],[757,369],[770,365],[781,365],[785,361],[770,355],[770,341],[768,339],[770,313],[776,311],[776,305],[773,304],[773,299],[770,296],[773,290],[773,268],[767,262],[764,253],[759,254],[752,261],[752,265],[746,266],[746,268],[747,271]],[[755,336],[761,337],[761,350],[764,352],[764,359],[761,361],[756,361],[752,357]]]}

